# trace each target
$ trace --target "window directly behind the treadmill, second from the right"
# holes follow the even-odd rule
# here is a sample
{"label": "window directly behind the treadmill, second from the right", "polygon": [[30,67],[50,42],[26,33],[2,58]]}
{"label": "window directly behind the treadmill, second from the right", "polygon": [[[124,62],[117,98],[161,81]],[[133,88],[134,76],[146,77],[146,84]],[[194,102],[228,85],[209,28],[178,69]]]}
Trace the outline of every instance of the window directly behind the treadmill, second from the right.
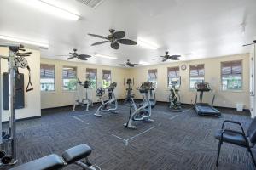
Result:
{"label": "window directly behind the treadmill, second from the right", "polygon": [[204,65],[189,65],[189,88],[195,88],[195,82],[205,81]]}

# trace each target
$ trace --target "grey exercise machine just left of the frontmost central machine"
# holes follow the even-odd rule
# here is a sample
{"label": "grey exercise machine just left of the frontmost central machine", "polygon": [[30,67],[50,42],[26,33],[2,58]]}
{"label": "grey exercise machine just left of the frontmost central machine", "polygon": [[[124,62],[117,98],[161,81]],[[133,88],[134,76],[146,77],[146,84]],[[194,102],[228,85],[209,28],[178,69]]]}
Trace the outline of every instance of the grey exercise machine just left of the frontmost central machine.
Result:
{"label": "grey exercise machine just left of the frontmost central machine", "polygon": [[114,88],[116,88],[117,83],[116,82],[112,82],[108,89],[108,100],[104,101],[102,99],[102,95],[105,94],[105,88],[97,88],[96,90],[96,95],[101,99],[102,105],[99,106],[99,108],[97,109],[96,113],[94,114],[94,116],[97,117],[101,117],[102,116],[102,112],[108,112],[111,111],[113,113],[117,113],[117,108],[118,108],[118,102],[117,99],[115,98],[114,95]]}

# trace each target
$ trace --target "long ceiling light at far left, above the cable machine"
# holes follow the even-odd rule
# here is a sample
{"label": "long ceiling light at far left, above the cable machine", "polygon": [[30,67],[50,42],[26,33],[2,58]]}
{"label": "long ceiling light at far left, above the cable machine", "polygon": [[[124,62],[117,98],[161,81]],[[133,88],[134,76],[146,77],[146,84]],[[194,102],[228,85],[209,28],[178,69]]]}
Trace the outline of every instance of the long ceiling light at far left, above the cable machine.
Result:
{"label": "long ceiling light at far left, above the cable machine", "polygon": [[25,43],[28,45],[37,46],[38,48],[49,48],[48,42],[36,42],[36,41],[32,41],[32,40],[20,39],[17,37],[9,37],[9,36],[3,36],[3,35],[0,35],[0,39],[11,41],[11,42]]}

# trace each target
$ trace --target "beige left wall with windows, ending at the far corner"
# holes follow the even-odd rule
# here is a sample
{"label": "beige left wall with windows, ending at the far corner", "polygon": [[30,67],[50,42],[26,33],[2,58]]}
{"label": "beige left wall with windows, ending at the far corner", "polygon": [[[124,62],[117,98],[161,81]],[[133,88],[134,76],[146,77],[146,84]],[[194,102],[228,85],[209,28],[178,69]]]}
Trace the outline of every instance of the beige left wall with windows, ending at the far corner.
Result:
{"label": "beige left wall with windows, ending at the far corner", "polygon": [[[59,107],[65,105],[73,105],[77,98],[77,91],[63,91],[62,90],[62,68],[63,66],[77,67],[77,74],[79,79],[84,82],[86,68],[97,69],[97,86],[102,87],[102,70],[111,70],[112,82],[117,82],[115,88],[115,95],[117,99],[125,98],[124,78],[129,77],[129,69],[118,67],[109,67],[104,65],[90,65],[82,62],[71,62],[55,59],[41,59],[42,64],[55,65],[55,92],[41,92],[41,108]],[[108,93],[106,93],[108,94]],[[96,89],[92,90],[93,101],[98,101],[96,97]]]}

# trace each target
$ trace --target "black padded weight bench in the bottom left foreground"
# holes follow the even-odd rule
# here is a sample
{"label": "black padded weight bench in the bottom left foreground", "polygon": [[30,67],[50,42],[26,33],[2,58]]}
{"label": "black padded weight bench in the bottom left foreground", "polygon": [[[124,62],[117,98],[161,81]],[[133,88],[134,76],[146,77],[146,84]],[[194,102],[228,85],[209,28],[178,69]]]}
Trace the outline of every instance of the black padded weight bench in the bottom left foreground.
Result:
{"label": "black padded weight bench in the bottom left foreground", "polygon": [[[18,167],[11,168],[10,170],[56,170],[72,163],[76,163],[77,165],[81,166],[81,162],[79,161],[81,159],[86,159],[88,156],[90,156],[90,153],[90,146],[87,144],[80,144],[65,150],[62,157],[52,154],[34,161],[29,161]],[[90,167],[89,161],[87,160],[87,164],[84,164],[83,166]]]}

